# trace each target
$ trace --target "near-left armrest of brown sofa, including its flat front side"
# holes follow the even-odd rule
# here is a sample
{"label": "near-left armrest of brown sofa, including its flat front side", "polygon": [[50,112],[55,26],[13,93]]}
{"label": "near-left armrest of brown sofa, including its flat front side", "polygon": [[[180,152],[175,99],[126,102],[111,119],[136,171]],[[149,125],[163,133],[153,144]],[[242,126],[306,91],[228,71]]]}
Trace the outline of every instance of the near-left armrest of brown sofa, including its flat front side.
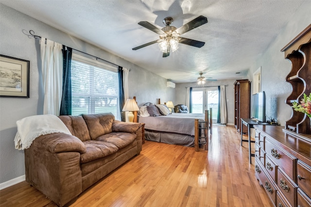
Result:
{"label": "near-left armrest of brown sofa, including its flat front side", "polygon": [[80,153],[85,146],[80,142],[64,133],[46,134],[24,150],[26,181],[57,206],[64,206],[82,192]]}

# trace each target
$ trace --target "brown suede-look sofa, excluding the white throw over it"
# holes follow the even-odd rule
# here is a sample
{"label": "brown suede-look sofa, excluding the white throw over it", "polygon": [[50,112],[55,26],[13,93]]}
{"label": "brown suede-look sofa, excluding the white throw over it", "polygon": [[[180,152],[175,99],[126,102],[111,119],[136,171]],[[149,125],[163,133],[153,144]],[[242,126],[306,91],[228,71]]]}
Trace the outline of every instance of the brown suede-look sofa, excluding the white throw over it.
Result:
{"label": "brown suede-look sofa, excluding the white throw over it", "polygon": [[26,181],[58,206],[141,151],[140,123],[117,121],[112,113],[59,118],[72,135],[42,135],[24,151]]}

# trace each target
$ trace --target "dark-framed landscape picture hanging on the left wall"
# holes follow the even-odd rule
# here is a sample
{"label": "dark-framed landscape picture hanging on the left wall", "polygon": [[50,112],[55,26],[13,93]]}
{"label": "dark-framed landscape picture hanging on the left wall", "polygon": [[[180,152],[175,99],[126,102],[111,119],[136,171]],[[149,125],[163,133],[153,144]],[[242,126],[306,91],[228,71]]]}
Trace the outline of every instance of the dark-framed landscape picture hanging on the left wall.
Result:
{"label": "dark-framed landscape picture hanging on the left wall", "polygon": [[0,96],[29,98],[29,61],[0,55]]}

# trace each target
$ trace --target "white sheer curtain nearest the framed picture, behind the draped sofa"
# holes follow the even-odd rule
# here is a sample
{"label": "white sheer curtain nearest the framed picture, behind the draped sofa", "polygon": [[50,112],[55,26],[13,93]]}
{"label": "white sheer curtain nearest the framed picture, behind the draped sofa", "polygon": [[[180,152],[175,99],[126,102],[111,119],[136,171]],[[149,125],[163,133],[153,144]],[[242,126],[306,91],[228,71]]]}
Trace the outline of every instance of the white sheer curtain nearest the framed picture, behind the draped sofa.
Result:
{"label": "white sheer curtain nearest the framed picture, behind the draped sofa", "polygon": [[43,114],[59,115],[63,88],[63,45],[41,38]]}

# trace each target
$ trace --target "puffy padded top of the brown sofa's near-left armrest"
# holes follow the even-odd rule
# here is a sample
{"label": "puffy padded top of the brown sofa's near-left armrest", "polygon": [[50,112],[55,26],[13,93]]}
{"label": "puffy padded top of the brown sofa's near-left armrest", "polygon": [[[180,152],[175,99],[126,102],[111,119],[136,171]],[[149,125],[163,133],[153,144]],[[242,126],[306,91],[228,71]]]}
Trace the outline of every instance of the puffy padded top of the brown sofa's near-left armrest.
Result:
{"label": "puffy padded top of the brown sofa's near-left armrest", "polygon": [[65,133],[52,133],[39,136],[34,140],[32,145],[51,153],[79,152],[83,154],[86,152],[86,146],[79,138]]}

